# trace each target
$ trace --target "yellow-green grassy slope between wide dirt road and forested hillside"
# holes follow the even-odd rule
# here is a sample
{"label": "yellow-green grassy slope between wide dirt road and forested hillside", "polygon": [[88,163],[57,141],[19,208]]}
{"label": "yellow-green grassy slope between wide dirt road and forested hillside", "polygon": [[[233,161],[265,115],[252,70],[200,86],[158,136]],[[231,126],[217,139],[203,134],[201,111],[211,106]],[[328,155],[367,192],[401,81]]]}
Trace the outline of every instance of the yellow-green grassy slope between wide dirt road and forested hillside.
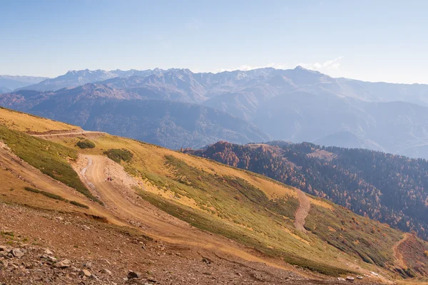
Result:
{"label": "yellow-green grassy slope between wide dirt road and forested hillside", "polygon": [[[77,140],[61,143],[73,147]],[[368,264],[384,268],[393,264],[392,245],[402,234],[385,224],[310,197],[309,232],[297,232],[293,222],[298,202],[292,187],[135,140],[105,135],[93,141],[96,148],[81,152],[102,155],[111,148],[131,150],[131,162],[121,163],[146,182],[146,191],[137,190],[141,196],[195,227],[324,274],[352,271],[346,263],[355,259],[367,268]]]}

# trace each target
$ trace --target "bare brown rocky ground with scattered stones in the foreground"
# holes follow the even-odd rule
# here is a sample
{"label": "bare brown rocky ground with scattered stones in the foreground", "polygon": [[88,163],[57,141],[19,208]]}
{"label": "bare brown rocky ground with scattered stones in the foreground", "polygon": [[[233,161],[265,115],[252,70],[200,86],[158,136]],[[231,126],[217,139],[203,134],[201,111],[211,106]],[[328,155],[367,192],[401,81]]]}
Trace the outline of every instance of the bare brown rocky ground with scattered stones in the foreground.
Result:
{"label": "bare brown rocky ground with scattered stones in the foreground", "polygon": [[0,203],[0,284],[345,283],[305,275],[164,244],[96,217]]}

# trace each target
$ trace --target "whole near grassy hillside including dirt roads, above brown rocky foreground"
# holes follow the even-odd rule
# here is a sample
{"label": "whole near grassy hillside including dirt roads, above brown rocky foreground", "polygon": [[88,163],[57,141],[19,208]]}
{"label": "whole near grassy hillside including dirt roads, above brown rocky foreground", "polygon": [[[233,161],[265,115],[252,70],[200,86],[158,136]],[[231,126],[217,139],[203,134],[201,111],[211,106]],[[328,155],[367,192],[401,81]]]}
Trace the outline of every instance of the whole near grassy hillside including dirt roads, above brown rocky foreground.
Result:
{"label": "whole near grassy hillside including dirt roads, above brown rocky foreground", "polygon": [[[39,125],[44,125],[43,128],[51,128],[49,133],[57,126],[55,122],[43,118],[6,111],[0,113],[4,120],[10,120],[8,114],[23,116],[17,120],[15,129],[26,129],[29,123],[24,118],[37,120]],[[73,133],[46,136],[54,140],[46,141],[1,128],[5,128],[1,132],[1,151],[7,152],[7,155],[1,155],[4,162],[1,162],[0,174],[4,169],[15,171],[16,167],[27,162],[40,167],[43,172],[46,166],[38,165],[36,157],[49,153],[51,158],[46,161],[71,162],[80,180],[76,177],[73,179],[83,182],[91,195],[106,207],[78,192],[63,188],[62,184],[58,184],[56,189],[48,182],[44,184],[31,178],[36,173],[36,170],[29,172],[31,167],[27,167],[21,175],[24,175],[24,181],[34,183],[30,184],[31,187],[36,187],[39,192],[31,190],[29,195],[44,196],[40,191],[45,191],[59,197],[65,196],[66,200],[59,200],[62,204],[76,200],[88,206],[88,209],[81,208],[83,212],[96,213],[98,219],[107,219],[119,226],[128,225],[137,232],[169,244],[190,247],[198,252],[203,250],[206,254],[211,252],[215,257],[223,257],[227,252],[235,258],[265,262],[268,266],[300,273],[305,271],[298,271],[284,261],[333,276],[350,271],[372,275],[371,271],[377,271],[382,274],[383,281],[427,273],[426,266],[413,259],[422,254],[419,261],[423,261],[423,251],[428,249],[420,239],[404,239],[401,232],[385,224],[357,216],[345,208],[311,196],[305,198],[309,209],[304,206],[306,210],[297,210],[302,207],[299,191],[252,172],[108,134],[91,138],[93,148],[80,149],[76,146],[76,142],[83,139],[79,133],[75,136],[71,136]],[[34,148],[40,151],[28,152]],[[28,153],[20,155],[24,162],[16,164],[18,160],[8,158],[13,155],[12,152],[19,155],[22,151]],[[65,157],[68,159],[65,160]],[[4,163],[11,166],[3,168]],[[54,173],[52,177],[62,181],[65,175]],[[113,179],[106,181],[106,177]],[[3,189],[1,187],[0,190]],[[9,190],[4,190],[9,194],[10,191],[6,191]],[[16,191],[20,194],[0,196],[1,201],[13,199],[18,204],[26,202],[23,199],[25,195],[20,196],[26,190]],[[55,197],[51,194],[49,197]],[[29,203],[36,203],[36,200]],[[56,209],[56,206],[48,206],[41,201],[37,203],[39,207]],[[299,213],[303,215],[300,217]],[[297,225],[304,223],[305,229],[297,227],[295,222]],[[409,252],[404,253],[404,247],[414,254],[409,256]],[[263,254],[255,254],[255,250]],[[397,253],[400,255],[399,261]]]}

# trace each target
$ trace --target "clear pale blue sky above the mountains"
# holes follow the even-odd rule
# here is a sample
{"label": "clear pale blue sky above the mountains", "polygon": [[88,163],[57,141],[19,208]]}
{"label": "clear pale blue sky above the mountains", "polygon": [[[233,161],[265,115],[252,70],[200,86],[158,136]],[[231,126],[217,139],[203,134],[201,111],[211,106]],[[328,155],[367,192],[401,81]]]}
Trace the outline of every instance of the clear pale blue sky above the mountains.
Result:
{"label": "clear pale blue sky above the mountains", "polygon": [[428,83],[428,1],[0,0],[0,74],[297,65]]}

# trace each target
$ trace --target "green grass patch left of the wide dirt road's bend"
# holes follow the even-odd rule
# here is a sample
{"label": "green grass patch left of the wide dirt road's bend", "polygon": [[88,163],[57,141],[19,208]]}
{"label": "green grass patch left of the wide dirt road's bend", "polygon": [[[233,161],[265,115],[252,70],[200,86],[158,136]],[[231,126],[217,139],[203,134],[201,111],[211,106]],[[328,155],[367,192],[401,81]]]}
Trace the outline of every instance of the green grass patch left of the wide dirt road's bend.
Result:
{"label": "green grass patch left of the wide dirt road's bend", "polygon": [[100,202],[83,185],[76,171],[68,162],[68,160],[77,159],[76,150],[56,142],[41,140],[31,137],[31,135],[9,130],[2,125],[0,125],[0,140],[5,142],[15,155],[29,165],[38,168],[45,175],[76,189],[89,199]]}

